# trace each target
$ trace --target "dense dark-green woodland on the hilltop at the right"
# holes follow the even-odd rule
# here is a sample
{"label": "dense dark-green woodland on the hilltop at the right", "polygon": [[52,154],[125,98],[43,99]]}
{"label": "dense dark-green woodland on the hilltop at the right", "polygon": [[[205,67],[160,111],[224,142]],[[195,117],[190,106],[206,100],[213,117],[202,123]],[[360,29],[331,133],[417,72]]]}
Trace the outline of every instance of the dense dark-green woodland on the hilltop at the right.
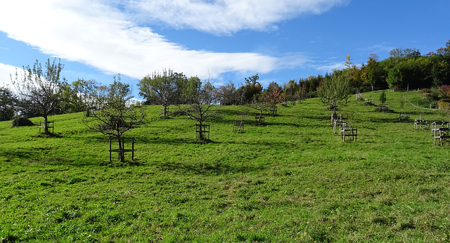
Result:
{"label": "dense dark-green woodland on the hilltop at the right", "polygon": [[[395,48],[390,51],[389,58],[378,60],[378,55],[372,53],[361,67],[356,67],[348,55],[346,65],[344,70],[334,72],[345,72],[352,91],[439,88],[450,84],[450,40],[444,47],[426,55],[416,48]],[[334,72],[300,79],[299,85],[304,86],[309,97],[315,97],[319,84]]]}

